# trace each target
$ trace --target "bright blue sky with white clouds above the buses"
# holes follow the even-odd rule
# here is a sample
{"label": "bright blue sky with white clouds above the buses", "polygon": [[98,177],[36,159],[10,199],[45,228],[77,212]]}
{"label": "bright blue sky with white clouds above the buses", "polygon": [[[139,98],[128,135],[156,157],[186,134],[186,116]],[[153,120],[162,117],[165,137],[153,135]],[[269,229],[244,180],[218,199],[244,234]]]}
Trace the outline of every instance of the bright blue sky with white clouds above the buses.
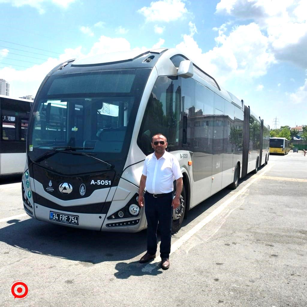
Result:
{"label": "bright blue sky with white clouds above the buses", "polygon": [[271,128],[307,125],[306,0],[0,0],[0,79],[36,95],[66,60],[177,48]]}

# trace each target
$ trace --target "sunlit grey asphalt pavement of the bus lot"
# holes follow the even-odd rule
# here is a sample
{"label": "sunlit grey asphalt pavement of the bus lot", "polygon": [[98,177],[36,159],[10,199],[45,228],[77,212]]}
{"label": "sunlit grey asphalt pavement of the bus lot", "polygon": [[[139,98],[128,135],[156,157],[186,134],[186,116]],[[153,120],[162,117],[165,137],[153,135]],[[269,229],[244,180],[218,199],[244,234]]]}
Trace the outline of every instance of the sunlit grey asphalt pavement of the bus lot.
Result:
{"label": "sunlit grey asphalt pavement of the bus lot", "polygon": [[[236,190],[193,208],[172,236],[165,271],[158,257],[138,262],[146,230],[107,233],[31,219],[21,178],[1,178],[0,306],[306,307],[306,166],[302,152],[270,155]],[[12,295],[16,281],[28,287],[24,299]]]}

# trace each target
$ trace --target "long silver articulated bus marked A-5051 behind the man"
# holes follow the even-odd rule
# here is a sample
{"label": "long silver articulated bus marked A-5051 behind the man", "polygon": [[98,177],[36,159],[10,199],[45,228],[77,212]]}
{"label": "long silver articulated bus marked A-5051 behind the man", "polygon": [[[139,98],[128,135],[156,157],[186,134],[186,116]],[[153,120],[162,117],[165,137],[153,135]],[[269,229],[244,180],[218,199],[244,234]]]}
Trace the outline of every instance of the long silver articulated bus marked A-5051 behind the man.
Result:
{"label": "long silver articulated bus marked A-5051 behind the man", "polygon": [[183,173],[173,232],[269,158],[270,127],[177,49],[69,60],[46,76],[30,118],[25,212],[70,227],[147,227],[137,199],[153,134],[167,137]]}

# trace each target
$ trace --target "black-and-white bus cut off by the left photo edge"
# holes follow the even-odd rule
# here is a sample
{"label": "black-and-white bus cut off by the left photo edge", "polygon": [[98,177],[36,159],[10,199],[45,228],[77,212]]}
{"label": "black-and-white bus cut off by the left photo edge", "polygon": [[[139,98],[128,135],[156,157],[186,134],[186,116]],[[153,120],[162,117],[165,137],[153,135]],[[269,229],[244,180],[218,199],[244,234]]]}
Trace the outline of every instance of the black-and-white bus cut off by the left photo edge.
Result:
{"label": "black-and-white bus cut off by the left photo edge", "polygon": [[0,175],[23,173],[25,142],[33,101],[0,95]]}

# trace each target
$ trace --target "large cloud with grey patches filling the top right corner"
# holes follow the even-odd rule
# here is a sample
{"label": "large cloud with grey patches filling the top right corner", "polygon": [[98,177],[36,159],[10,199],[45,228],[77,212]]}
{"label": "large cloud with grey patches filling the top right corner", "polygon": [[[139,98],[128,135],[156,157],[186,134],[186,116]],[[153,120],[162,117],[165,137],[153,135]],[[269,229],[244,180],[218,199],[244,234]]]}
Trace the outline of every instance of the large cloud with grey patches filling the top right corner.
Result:
{"label": "large cloud with grey patches filling the top right corner", "polygon": [[267,33],[277,60],[307,68],[307,2],[305,0],[221,0],[217,13],[254,20]]}

